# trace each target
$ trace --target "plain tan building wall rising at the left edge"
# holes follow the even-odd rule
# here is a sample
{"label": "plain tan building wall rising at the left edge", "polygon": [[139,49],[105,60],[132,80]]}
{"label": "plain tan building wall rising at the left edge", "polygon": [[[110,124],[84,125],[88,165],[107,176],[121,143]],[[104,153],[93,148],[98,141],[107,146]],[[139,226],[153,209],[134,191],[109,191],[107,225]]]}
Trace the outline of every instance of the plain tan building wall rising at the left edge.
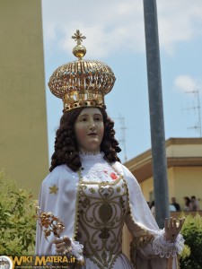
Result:
{"label": "plain tan building wall rising at the left edge", "polygon": [[48,173],[40,0],[0,1],[0,170],[37,197]]}

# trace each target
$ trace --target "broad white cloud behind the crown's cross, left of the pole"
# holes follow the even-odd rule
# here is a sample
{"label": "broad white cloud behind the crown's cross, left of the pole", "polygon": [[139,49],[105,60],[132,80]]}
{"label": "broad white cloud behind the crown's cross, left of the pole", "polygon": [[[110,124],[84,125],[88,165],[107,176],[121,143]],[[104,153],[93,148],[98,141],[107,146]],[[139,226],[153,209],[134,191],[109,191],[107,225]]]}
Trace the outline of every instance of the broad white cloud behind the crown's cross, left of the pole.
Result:
{"label": "broad white cloud behind the crown's cross, left of the pole", "polygon": [[140,23],[143,22],[143,6],[137,0],[127,3],[75,0],[71,4],[66,0],[44,0],[42,4],[45,39],[57,42],[57,46],[68,54],[75,45],[71,36],[76,29],[87,37],[83,42],[87,48],[86,57],[109,56],[122,48],[145,49],[144,24]]}

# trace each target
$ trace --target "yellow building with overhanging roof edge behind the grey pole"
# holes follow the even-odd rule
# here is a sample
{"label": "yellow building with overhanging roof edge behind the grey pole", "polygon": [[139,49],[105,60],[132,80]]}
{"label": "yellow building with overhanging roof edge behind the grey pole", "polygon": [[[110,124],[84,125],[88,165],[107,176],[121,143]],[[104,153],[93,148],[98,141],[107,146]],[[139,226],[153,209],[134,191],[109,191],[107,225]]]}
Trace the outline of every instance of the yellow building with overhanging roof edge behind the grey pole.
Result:
{"label": "yellow building with overhanging roof edge behind the grey pole", "polygon": [[[202,209],[202,138],[170,138],[166,141],[169,197],[176,197],[181,209],[184,196],[196,195]],[[148,202],[154,200],[152,151],[126,163],[137,178]]]}

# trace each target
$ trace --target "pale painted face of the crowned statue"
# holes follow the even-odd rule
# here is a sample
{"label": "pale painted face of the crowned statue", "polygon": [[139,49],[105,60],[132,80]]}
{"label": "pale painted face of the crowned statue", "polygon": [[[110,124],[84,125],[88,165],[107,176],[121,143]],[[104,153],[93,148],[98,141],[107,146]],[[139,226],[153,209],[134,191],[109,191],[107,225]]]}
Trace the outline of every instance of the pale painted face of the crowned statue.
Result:
{"label": "pale painted face of the crowned statue", "polygon": [[80,152],[100,152],[104,123],[100,109],[83,108],[75,121],[75,138]]}

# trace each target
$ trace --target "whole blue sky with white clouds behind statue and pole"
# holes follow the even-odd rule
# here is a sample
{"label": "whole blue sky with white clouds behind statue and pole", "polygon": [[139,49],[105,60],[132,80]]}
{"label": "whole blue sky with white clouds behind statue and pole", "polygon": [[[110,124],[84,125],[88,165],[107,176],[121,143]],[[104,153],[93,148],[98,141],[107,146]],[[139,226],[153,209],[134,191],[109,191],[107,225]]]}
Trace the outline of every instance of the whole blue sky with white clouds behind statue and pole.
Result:
{"label": "whole blue sky with white clouds behind statue and pole", "polygon": [[[199,137],[192,128],[199,125],[198,109],[193,108],[198,99],[190,92],[199,92],[202,106],[202,2],[159,0],[157,9],[165,138]],[[49,156],[63,105],[48,90],[48,80],[58,65],[75,60],[71,37],[77,29],[86,36],[84,58],[105,62],[116,75],[105,100],[120,140],[121,161],[151,148],[143,1],[42,0],[42,18]]]}

